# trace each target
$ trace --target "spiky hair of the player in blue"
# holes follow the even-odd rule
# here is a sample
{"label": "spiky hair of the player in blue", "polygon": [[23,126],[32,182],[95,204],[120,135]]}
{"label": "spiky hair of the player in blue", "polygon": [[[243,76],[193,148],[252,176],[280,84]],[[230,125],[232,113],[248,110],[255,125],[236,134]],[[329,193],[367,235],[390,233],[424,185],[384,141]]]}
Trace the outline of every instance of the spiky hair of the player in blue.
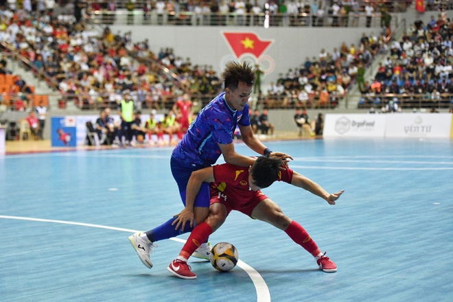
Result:
{"label": "spiky hair of the player in blue", "polygon": [[252,86],[256,79],[255,71],[246,62],[242,64],[234,61],[227,62],[222,73],[225,88],[231,90],[237,89],[239,82],[244,82],[248,86]]}

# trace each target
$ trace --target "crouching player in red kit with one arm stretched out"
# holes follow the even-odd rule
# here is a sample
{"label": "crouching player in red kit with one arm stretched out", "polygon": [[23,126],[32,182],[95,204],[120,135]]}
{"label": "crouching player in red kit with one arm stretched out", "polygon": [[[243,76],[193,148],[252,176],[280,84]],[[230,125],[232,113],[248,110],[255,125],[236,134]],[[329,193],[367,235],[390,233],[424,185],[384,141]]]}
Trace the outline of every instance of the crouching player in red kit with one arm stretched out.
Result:
{"label": "crouching player in red kit with one arm stretched out", "polygon": [[[196,279],[196,275],[187,265],[187,259],[198,248],[196,242],[205,242],[207,237],[224,223],[229,213],[236,210],[281,229],[313,255],[321,270],[336,272],[336,264],[329,257],[325,257],[325,253],[321,253],[307,231],[299,223],[284,215],[280,207],[260,189],[272,185],[275,181],[284,181],[310,191],[326,200],[329,205],[335,205],[335,200],[340,198],[345,190],[329,194],[321,185],[289,167],[284,166],[286,169],[281,170],[282,166],[283,162],[279,158],[259,156],[248,169],[224,163],[192,172],[187,183],[186,205],[193,204],[190,200],[195,199],[202,183],[211,183],[209,216],[194,228],[181,253],[167,269],[182,279]],[[181,222],[178,219],[173,223],[176,224],[176,229],[180,227]],[[193,224],[193,220],[190,224]]]}

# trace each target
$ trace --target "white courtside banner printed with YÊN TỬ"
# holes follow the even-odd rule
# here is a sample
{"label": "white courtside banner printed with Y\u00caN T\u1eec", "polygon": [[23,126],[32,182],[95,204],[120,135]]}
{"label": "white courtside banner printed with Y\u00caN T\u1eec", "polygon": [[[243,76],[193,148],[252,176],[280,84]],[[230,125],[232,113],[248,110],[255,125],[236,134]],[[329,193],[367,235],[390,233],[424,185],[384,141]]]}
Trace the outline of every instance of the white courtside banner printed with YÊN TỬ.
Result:
{"label": "white courtside banner printed with Y\u00caN T\u1eec", "polygon": [[386,137],[450,137],[451,113],[397,113],[386,117]]}

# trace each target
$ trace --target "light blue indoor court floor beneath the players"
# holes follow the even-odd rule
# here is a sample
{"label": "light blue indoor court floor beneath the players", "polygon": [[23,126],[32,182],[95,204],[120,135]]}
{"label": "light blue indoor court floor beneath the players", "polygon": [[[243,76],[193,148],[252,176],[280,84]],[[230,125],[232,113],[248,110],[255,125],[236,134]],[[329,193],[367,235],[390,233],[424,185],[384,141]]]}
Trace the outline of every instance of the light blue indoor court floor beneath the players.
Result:
{"label": "light blue indoor court floor beneath the players", "polygon": [[453,141],[266,146],[327,191],[345,189],[335,206],[286,183],[264,189],[337,272],[235,212],[210,237],[236,246],[231,272],[198,259],[189,260],[196,280],[167,272],[187,234],[157,242],[149,270],[128,236],[183,208],[171,148],[17,154],[0,157],[0,301],[453,301]]}

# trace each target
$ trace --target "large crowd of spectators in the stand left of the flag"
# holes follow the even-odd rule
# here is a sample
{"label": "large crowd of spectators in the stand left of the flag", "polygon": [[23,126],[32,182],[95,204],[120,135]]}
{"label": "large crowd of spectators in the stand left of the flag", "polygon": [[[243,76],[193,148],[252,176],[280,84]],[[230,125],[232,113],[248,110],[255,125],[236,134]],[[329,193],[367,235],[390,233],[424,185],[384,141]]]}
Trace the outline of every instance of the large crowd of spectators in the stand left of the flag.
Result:
{"label": "large crowd of spectators in the stand left of the flag", "polygon": [[[220,89],[212,67],[191,65],[170,48],[154,54],[148,40],[132,43],[130,32],[115,35],[106,27],[99,36],[73,16],[25,10],[0,10],[0,27],[0,42],[11,54],[80,108],[115,108],[126,92],[137,108],[171,108],[175,95],[201,97]],[[162,67],[170,70],[167,76],[157,71]]]}

